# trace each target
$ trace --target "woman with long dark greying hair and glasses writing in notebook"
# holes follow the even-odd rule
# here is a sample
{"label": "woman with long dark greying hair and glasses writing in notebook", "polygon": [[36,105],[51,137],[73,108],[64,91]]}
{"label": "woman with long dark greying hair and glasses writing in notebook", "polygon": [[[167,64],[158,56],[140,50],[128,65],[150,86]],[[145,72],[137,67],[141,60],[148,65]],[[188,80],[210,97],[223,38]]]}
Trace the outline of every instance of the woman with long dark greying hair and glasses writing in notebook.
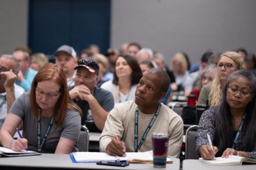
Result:
{"label": "woman with long dark greying hair and glasses writing in notebook", "polygon": [[[256,78],[247,70],[233,72],[218,106],[199,121],[196,150],[206,160],[238,155],[256,159]],[[213,141],[213,150],[207,140]]]}

